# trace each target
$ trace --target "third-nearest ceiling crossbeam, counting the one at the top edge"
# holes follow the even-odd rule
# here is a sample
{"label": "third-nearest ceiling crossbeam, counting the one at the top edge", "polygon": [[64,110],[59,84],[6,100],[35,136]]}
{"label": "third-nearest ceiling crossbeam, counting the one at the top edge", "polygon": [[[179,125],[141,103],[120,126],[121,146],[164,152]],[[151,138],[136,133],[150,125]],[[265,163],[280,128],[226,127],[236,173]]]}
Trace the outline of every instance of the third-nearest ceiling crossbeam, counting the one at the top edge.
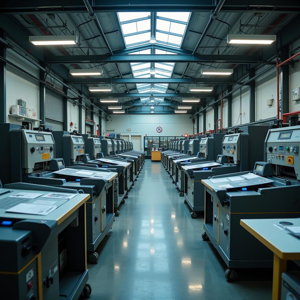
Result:
{"label": "third-nearest ceiling crossbeam, counting the one at the top edge", "polygon": [[125,83],[207,83],[232,84],[231,76],[226,78],[72,78],[73,84],[125,84]]}

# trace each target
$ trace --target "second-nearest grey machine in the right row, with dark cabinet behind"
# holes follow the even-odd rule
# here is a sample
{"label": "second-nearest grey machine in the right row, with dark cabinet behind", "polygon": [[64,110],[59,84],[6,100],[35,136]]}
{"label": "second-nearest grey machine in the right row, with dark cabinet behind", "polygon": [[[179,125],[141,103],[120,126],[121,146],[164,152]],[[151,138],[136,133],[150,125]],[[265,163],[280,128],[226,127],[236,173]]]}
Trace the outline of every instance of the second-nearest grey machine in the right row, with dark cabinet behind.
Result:
{"label": "second-nearest grey machine in the right row, with dark cabinet behind", "polygon": [[[222,142],[222,154],[216,161],[187,164],[184,172],[184,203],[192,209],[191,217],[197,211],[204,211],[204,186],[202,179],[210,176],[246,171],[257,160],[263,158],[263,145],[267,126],[244,126],[225,134]],[[199,145],[198,145],[199,147]]]}

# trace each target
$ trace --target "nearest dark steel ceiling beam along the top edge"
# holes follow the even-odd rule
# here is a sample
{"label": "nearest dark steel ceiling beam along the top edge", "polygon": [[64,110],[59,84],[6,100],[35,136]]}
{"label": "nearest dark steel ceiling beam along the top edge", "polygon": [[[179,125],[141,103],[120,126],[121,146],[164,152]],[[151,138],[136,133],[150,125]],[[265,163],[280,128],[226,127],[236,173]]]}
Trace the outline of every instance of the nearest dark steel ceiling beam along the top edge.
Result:
{"label": "nearest dark steel ceiling beam along the top edge", "polygon": [[[134,12],[134,11],[198,11],[211,12],[216,8],[211,0],[111,0],[105,2],[94,0],[92,9],[96,13],[103,12]],[[269,12],[269,13],[295,13],[300,10],[298,0],[248,0],[245,4],[240,0],[226,0],[222,12]],[[14,0],[1,1],[0,13],[7,14],[38,14],[38,13],[85,13],[86,8],[82,0]]]}

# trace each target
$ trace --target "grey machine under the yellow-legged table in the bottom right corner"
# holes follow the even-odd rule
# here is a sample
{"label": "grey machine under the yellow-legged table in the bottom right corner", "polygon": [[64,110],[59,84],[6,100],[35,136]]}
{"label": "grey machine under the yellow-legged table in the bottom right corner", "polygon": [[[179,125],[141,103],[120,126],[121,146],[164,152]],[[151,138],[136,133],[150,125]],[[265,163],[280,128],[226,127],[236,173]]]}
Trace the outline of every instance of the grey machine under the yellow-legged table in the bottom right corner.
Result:
{"label": "grey machine under the yellow-legged table in the bottom right corner", "polygon": [[281,278],[281,300],[300,300],[300,272],[284,272]]}

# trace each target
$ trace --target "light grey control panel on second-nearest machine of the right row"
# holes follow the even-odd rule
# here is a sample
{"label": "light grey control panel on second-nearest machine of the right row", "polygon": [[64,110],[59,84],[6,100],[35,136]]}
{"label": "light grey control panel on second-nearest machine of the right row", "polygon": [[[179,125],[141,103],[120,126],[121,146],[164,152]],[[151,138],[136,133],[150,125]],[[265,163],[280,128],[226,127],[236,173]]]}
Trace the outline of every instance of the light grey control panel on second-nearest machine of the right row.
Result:
{"label": "light grey control panel on second-nearest machine of the right row", "polygon": [[239,164],[241,157],[241,134],[228,134],[223,138],[222,153],[229,158],[234,164]]}

